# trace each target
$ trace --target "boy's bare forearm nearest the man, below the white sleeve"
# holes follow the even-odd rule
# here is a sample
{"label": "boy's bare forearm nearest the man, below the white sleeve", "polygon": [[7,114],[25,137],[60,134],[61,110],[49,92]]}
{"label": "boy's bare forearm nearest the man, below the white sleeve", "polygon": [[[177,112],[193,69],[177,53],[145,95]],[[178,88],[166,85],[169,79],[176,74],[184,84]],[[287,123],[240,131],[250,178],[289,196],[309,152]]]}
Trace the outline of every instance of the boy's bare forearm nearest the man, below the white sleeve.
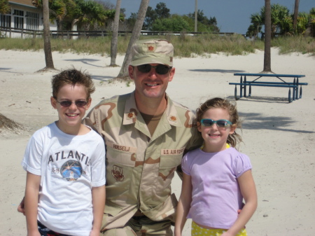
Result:
{"label": "boy's bare forearm nearest the man, below the white sleeve", "polygon": [[105,207],[105,186],[92,188],[93,225],[90,236],[98,236],[102,227]]}

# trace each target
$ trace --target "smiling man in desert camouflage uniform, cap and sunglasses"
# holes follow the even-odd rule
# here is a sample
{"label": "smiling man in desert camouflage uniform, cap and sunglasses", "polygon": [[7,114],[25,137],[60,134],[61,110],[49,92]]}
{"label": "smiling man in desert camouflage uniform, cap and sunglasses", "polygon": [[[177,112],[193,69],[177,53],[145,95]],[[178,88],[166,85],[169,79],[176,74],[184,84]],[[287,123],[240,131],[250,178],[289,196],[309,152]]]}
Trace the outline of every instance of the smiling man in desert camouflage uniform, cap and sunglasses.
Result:
{"label": "smiling man in desert camouflage uniform, cap and sunglasses", "polygon": [[183,153],[202,144],[194,113],[165,92],[175,73],[173,54],[166,40],[135,43],[134,92],[104,99],[85,118],[106,144],[103,235],[173,235],[171,181]]}

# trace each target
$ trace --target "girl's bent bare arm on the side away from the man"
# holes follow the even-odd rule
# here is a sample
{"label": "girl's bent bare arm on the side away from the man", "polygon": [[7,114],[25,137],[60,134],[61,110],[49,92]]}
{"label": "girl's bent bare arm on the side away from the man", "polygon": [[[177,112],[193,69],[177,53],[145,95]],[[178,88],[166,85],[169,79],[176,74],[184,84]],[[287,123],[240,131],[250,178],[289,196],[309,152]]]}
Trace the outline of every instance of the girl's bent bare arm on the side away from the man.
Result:
{"label": "girl's bent bare arm on the side away from the man", "polygon": [[243,209],[241,209],[237,221],[235,221],[232,227],[221,236],[237,235],[237,232],[244,228],[244,225],[246,225],[251,216],[253,216],[255,209],[257,208],[257,193],[251,170],[244,172],[244,174],[239,176],[237,181],[239,182],[239,188],[241,189],[241,195],[244,197],[245,205]]}

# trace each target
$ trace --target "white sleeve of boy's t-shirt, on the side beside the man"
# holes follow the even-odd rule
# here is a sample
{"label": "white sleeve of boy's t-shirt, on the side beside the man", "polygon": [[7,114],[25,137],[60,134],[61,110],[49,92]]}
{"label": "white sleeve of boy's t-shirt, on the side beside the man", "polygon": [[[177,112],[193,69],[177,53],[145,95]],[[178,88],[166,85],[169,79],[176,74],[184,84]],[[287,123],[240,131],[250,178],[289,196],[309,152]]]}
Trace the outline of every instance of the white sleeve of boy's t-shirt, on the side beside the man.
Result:
{"label": "white sleeve of boy's t-shirt, on the side beside the man", "polygon": [[94,158],[91,163],[92,187],[103,186],[106,183],[106,168],[105,168],[105,144],[102,137],[95,133],[97,136],[98,145],[94,151]]}

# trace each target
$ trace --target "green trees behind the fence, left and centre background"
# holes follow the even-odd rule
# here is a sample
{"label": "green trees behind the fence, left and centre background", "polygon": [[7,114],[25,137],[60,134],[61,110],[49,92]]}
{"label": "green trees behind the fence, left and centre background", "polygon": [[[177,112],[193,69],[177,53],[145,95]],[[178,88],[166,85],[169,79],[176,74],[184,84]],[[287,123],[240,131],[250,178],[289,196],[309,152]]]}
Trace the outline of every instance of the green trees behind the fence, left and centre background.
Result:
{"label": "green trees behind the fence, left and centre background", "polygon": [[[37,8],[43,8],[43,0],[33,0]],[[113,4],[100,0],[49,0],[49,20],[57,22],[57,30],[96,31],[113,30],[116,8]],[[126,18],[125,8],[120,8],[119,27],[121,31],[132,31],[138,13]],[[0,13],[10,13],[8,0],[0,0]],[[203,11],[197,12],[198,32],[219,32],[216,18],[207,18]],[[195,13],[187,15],[170,14],[165,3],[160,2],[152,8],[148,6],[143,30],[166,32],[193,32]]]}

